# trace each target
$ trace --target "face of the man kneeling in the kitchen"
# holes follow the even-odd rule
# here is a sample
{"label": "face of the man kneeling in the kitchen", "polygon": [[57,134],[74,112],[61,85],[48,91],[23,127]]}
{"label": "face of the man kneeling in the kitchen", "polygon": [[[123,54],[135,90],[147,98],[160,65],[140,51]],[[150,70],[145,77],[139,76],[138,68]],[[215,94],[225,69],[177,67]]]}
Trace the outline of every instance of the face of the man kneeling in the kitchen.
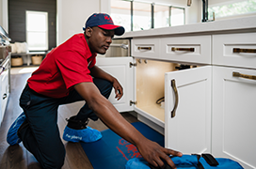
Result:
{"label": "face of the man kneeling in the kitchen", "polygon": [[98,26],[87,28],[88,47],[91,53],[105,54],[114,37],[114,30],[105,30]]}

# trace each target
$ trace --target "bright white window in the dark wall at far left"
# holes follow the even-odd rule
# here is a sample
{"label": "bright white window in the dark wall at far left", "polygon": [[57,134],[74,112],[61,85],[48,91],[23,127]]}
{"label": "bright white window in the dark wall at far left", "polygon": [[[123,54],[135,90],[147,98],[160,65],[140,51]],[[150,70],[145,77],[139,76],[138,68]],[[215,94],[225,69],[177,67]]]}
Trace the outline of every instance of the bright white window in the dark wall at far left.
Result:
{"label": "bright white window in the dark wall at far left", "polygon": [[29,51],[48,50],[48,13],[26,11],[26,42]]}

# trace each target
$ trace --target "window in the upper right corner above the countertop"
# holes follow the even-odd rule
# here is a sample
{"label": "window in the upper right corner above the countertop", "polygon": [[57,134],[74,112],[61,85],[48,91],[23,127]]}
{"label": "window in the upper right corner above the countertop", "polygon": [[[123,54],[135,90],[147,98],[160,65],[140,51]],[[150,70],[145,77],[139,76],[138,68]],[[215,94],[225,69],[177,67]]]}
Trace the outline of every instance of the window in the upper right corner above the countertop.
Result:
{"label": "window in the upper right corner above the countertop", "polygon": [[209,18],[213,18],[213,12],[215,12],[216,18],[256,12],[256,0],[244,0],[232,4],[208,8]]}

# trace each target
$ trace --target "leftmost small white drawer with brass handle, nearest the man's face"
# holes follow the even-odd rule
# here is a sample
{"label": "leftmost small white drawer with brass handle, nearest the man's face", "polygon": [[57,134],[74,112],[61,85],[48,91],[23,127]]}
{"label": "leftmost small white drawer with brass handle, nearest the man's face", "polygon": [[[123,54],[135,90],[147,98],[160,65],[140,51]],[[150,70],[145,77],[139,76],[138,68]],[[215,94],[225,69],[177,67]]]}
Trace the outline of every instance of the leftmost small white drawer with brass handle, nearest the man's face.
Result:
{"label": "leftmost small white drawer with brass handle, nearest the man's face", "polygon": [[159,38],[133,38],[132,56],[158,58],[159,44]]}

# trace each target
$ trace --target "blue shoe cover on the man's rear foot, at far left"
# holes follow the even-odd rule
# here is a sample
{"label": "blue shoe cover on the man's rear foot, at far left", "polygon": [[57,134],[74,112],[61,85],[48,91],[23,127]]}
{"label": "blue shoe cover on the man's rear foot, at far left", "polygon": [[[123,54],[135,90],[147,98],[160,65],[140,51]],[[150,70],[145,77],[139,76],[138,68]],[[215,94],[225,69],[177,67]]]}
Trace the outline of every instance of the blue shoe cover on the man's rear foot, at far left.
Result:
{"label": "blue shoe cover on the man's rear foot, at far left", "polygon": [[18,145],[22,140],[18,137],[18,130],[20,126],[24,123],[25,115],[24,112],[17,117],[17,119],[12,123],[8,130],[7,141],[10,146]]}

